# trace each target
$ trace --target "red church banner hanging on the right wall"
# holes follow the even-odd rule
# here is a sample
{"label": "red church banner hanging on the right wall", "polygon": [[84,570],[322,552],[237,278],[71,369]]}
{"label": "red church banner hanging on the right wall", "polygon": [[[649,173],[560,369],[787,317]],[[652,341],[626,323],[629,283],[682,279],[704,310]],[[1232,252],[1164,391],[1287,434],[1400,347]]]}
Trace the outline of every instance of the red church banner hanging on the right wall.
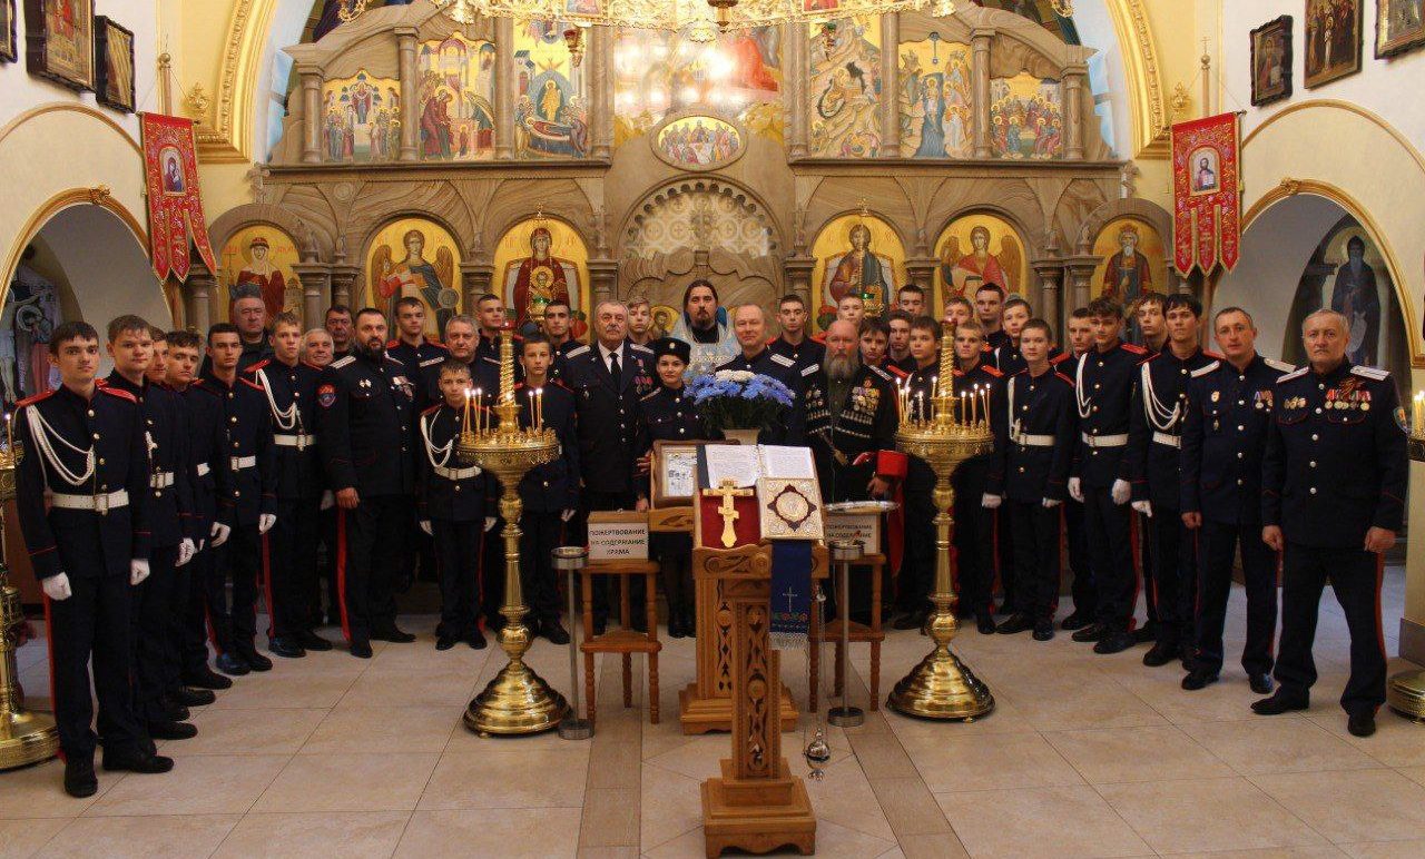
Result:
{"label": "red church banner hanging on the right wall", "polygon": [[1241,115],[1173,125],[1173,266],[1211,272],[1241,251]]}

